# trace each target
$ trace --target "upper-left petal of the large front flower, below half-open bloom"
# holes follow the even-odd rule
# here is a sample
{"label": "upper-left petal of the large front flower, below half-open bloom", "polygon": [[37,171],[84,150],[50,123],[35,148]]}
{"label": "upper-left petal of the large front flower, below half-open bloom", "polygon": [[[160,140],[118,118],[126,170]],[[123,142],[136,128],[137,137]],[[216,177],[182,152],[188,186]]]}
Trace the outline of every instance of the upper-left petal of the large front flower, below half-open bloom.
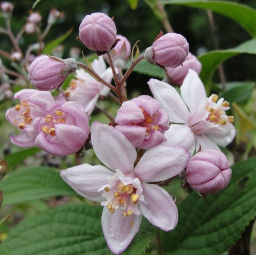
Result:
{"label": "upper-left petal of the large front flower, below half-open bloom", "polygon": [[136,149],[120,131],[113,126],[94,122],[91,137],[94,152],[105,166],[113,171],[119,169],[124,174],[133,170]]}

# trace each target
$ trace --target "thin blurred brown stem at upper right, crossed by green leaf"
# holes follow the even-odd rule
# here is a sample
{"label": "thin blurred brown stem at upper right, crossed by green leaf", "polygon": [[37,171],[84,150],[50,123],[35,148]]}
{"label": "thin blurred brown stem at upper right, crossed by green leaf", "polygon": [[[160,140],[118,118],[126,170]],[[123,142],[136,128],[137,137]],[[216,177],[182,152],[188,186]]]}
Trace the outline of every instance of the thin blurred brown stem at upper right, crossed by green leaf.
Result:
{"label": "thin blurred brown stem at upper right, crossed by green leaf", "polygon": [[[211,10],[207,10],[207,16],[210,23],[210,30],[213,37],[213,45],[215,49],[219,49],[219,43],[218,43],[218,36],[217,36],[217,29],[215,26],[214,18],[213,18],[213,12]],[[223,65],[220,64],[218,67],[218,73],[219,73],[219,79],[221,80],[222,88],[223,90],[226,89],[226,78],[224,73]]]}

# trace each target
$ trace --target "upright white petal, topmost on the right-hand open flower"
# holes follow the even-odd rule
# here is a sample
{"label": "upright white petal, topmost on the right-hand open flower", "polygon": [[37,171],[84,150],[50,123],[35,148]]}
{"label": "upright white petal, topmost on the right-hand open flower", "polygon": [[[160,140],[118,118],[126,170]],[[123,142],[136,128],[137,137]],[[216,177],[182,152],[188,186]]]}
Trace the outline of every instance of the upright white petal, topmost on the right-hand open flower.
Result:
{"label": "upright white petal, topmost on the right-hand open flower", "polygon": [[198,74],[192,69],[188,69],[188,73],[183,81],[181,96],[190,109],[191,115],[198,112],[200,103],[206,98],[204,85]]}

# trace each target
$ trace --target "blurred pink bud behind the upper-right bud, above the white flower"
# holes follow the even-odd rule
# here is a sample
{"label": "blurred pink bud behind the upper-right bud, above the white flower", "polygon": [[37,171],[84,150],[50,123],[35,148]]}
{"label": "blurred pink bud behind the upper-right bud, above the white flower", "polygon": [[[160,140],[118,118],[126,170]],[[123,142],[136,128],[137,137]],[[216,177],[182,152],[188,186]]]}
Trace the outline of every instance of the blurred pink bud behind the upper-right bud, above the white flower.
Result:
{"label": "blurred pink bud behind the upper-right bud, above the white flower", "polygon": [[188,69],[196,71],[197,74],[199,74],[202,69],[201,62],[195,55],[191,54],[190,52],[188,53],[186,60],[181,66],[175,68],[165,68],[170,84],[181,86],[184,78],[188,73]]}

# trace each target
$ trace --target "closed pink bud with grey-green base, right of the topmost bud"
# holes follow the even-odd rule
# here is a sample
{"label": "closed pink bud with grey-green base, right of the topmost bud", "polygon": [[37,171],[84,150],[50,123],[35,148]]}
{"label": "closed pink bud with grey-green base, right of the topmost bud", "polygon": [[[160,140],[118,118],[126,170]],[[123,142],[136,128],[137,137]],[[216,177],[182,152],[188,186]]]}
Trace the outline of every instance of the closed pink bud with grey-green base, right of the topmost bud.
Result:
{"label": "closed pink bud with grey-green base, right of the topmost bud", "polygon": [[181,34],[167,33],[145,51],[145,59],[161,67],[177,67],[188,55],[188,42]]}

